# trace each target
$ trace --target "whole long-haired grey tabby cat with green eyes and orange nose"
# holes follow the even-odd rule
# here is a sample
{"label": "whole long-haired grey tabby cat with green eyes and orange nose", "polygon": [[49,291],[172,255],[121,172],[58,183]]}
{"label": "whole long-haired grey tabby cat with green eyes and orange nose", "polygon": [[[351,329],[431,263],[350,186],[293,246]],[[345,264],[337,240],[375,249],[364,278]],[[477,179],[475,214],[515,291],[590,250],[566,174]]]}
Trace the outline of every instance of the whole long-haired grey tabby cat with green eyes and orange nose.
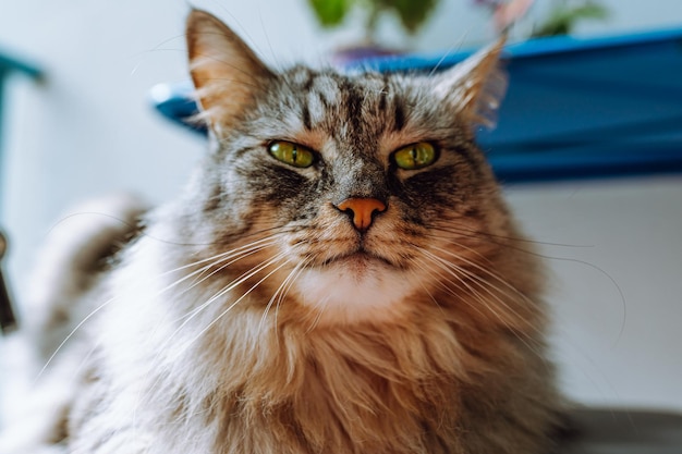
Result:
{"label": "whole long-haired grey tabby cat with green eyes and orange nose", "polygon": [[186,39],[210,150],[176,200],[117,199],[118,224],[84,217],[107,226],[45,260],[78,285],[45,296],[62,327],[42,335],[73,335],[39,380],[62,397],[32,443],[550,452],[564,403],[543,266],[475,145],[502,41],[425,75],[275,72],[198,10]]}

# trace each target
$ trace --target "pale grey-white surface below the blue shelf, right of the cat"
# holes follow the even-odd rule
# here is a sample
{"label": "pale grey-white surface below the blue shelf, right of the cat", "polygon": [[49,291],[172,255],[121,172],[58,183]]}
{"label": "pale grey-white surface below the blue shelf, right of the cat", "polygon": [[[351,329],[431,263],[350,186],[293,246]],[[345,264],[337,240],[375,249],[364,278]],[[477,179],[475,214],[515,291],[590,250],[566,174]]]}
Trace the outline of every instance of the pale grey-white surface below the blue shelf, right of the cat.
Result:
{"label": "pale grey-white surface below the blue shelf, right of the cat", "polygon": [[682,176],[511,187],[551,270],[563,389],[682,410]]}

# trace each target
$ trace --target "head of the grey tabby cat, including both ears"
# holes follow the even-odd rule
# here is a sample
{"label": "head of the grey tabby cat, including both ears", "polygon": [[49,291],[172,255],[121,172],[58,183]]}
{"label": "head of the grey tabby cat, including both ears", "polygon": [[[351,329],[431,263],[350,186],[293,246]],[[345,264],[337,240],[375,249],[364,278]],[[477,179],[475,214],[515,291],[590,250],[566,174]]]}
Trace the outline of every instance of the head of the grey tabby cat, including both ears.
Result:
{"label": "head of the grey tabby cat, including both ears", "polygon": [[500,95],[499,46],[434,77],[275,74],[200,12],[188,45],[215,138],[200,222],[253,247],[243,272],[271,261],[253,278],[271,302],[295,295],[321,322],[400,317],[509,234],[472,133]]}

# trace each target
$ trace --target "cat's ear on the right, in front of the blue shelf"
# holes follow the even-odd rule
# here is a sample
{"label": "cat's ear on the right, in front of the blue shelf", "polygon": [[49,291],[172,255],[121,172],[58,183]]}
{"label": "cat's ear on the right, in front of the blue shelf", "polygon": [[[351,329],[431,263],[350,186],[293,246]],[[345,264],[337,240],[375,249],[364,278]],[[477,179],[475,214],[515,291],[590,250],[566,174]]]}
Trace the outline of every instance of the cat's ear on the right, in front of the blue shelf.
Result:
{"label": "cat's ear on the right, in front of the blue shelf", "polygon": [[507,91],[507,73],[500,66],[504,38],[439,74],[438,95],[449,100],[472,127],[495,127]]}

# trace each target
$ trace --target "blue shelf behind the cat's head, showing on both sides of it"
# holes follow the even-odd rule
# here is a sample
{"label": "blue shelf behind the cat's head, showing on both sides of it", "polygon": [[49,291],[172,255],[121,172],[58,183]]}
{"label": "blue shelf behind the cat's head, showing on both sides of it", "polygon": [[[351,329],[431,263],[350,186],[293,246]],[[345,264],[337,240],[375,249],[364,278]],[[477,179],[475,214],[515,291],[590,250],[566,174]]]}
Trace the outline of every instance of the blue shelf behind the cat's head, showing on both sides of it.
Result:
{"label": "blue shelf behind the cat's head, showing on both sides of it", "polygon": [[[682,28],[541,38],[506,48],[510,76],[498,127],[480,146],[503,182],[682,171]],[[439,71],[471,51],[364,60],[381,72]],[[157,108],[196,112],[191,86]]]}

